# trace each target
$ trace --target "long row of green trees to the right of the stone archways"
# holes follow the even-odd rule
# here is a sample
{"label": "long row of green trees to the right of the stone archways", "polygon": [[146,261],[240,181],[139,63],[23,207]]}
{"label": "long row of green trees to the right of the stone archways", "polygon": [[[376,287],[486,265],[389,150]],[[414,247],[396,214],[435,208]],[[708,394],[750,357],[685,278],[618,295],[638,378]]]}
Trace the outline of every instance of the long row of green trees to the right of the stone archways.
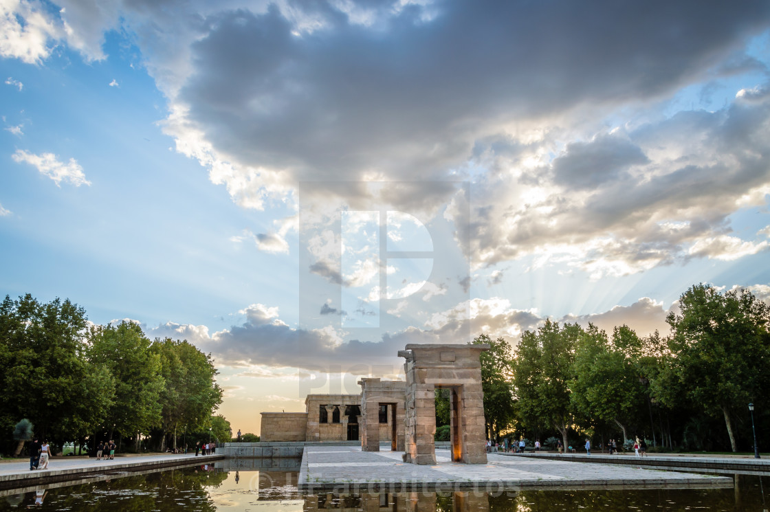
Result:
{"label": "long row of green trees to the right of the stone archways", "polygon": [[564,446],[572,434],[752,449],[748,403],[760,434],[770,423],[768,320],[770,308],[750,291],[701,284],[668,314],[668,336],[550,320],[525,332],[515,348],[478,336],[473,343],[492,347],[481,355],[488,435],[557,434]]}

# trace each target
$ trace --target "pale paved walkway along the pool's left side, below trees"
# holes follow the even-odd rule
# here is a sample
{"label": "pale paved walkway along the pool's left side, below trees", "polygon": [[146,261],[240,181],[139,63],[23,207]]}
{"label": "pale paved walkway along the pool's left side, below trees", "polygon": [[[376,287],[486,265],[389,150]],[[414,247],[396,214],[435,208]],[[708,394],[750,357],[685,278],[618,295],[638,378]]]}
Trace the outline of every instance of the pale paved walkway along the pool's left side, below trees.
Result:
{"label": "pale paved walkway along the pool's left side, below trees", "polygon": [[94,474],[159,470],[188,464],[207,464],[222,460],[223,455],[196,457],[194,453],[175,455],[153,453],[137,457],[115,457],[114,460],[95,460],[82,457],[52,457],[47,470],[29,470],[29,459],[23,462],[0,464],[0,489],[45,485],[66,480],[78,480]]}

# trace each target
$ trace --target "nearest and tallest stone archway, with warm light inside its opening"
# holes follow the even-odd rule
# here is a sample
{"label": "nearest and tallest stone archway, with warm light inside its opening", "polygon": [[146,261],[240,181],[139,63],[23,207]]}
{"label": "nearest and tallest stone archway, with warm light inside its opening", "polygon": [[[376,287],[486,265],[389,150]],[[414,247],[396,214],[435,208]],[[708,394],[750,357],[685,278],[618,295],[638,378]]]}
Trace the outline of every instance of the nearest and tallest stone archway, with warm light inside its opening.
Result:
{"label": "nearest and tallest stone archway, with warm light inside its opening", "polygon": [[487,463],[479,356],[489,349],[489,345],[409,344],[399,351],[407,360],[405,462],[436,463],[436,389],[448,388],[452,460]]}

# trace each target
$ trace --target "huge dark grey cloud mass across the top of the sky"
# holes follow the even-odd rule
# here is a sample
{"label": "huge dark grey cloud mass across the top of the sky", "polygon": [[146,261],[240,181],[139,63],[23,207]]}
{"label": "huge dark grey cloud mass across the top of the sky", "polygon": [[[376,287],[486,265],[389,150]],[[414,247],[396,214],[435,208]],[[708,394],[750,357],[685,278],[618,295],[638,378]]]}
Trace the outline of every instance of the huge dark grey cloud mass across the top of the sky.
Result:
{"label": "huge dark grey cloud mass across the top of the sky", "polygon": [[219,150],[299,179],[438,178],[497,123],[702,77],[770,13],[768,2],[447,2],[429,21],[405,8],[365,27],[313,5],[313,32],[275,6],[209,18],[179,96]]}

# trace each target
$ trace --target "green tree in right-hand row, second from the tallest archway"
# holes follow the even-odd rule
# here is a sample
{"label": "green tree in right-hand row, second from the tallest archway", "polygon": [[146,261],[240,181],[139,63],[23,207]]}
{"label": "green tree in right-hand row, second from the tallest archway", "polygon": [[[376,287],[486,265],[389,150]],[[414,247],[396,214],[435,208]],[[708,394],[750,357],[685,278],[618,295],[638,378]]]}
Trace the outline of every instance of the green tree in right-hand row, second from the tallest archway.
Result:
{"label": "green tree in right-hand row, second from the tallest archway", "polygon": [[525,331],[514,351],[513,370],[517,407],[534,424],[552,425],[568,446],[567,429],[574,417],[570,383],[574,380],[577,323],[546,320],[536,332]]}

